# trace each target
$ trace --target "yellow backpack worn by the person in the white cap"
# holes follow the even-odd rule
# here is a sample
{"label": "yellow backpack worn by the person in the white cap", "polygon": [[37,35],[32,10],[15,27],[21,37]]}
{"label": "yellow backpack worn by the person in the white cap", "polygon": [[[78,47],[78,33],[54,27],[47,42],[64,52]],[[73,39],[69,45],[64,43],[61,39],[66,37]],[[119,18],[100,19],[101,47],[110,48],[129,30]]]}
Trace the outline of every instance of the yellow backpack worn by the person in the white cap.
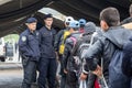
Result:
{"label": "yellow backpack worn by the person in the white cap", "polygon": [[66,38],[67,38],[68,35],[70,35],[69,31],[64,31],[64,34],[63,34],[63,36],[62,36],[62,42],[61,42],[61,44],[59,44],[59,51],[58,51],[58,53],[59,53],[61,55],[64,54],[65,41],[66,41]]}

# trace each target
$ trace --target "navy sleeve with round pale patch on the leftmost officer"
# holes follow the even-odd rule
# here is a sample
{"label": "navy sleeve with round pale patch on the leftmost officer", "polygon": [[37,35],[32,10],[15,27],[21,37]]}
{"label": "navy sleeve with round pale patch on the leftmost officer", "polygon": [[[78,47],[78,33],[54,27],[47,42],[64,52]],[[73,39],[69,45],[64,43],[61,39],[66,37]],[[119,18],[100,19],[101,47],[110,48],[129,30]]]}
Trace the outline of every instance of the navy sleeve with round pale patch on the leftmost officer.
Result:
{"label": "navy sleeve with round pale patch on the leftmost officer", "polygon": [[28,46],[28,38],[25,35],[20,35],[19,38],[19,51],[22,55],[33,56],[31,48]]}

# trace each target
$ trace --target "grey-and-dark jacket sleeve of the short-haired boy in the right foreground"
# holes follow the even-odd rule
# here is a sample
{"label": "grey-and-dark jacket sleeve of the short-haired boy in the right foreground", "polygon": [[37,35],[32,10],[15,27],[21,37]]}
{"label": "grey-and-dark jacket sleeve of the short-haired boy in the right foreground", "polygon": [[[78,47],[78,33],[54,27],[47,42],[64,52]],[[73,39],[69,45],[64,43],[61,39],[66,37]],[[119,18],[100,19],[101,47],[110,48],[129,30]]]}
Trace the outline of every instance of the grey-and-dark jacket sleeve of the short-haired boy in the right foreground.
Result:
{"label": "grey-and-dark jacket sleeve of the short-haired boy in the right foreground", "polygon": [[97,68],[97,62],[95,61],[95,57],[102,54],[102,46],[103,43],[101,42],[101,40],[98,40],[94,45],[89,46],[88,51],[84,53],[82,58],[86,59],[88,66],[88,68],[85,68],[86,70],[95,70]]}

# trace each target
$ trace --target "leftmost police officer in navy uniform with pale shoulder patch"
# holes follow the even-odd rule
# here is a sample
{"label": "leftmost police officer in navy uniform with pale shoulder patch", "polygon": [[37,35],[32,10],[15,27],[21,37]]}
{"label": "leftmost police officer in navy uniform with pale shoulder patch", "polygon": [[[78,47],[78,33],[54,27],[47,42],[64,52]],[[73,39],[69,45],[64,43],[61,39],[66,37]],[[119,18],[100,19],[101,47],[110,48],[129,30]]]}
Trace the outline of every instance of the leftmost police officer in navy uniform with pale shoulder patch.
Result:
{"label": "leftmost police officer in navy uniform with pale shoulder patch", "polygon": [[40,59],[38,32],[36,32],[37,20],[29,18],[25,22],[28,29],[21,33],[19,38],[19,51],[22,56],[23,82],[21,88],[31,88],[36,65]]}

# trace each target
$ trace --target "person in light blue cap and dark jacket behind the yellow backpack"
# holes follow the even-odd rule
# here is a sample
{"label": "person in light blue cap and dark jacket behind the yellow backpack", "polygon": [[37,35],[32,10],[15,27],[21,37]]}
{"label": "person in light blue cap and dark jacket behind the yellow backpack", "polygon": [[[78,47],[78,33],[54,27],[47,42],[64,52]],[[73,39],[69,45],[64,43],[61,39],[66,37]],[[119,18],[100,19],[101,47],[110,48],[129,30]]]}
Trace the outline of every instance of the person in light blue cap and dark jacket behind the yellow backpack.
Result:
{"label": "person in light blue cap and dark jacket behind the yellow backpack", "polygon": [[65,88],[77,88],[77,76],[73,67],[74,59],[72,55],[72,50],[75,46],[77,38],[79,38],[80,36],[80,33],[78,32],[79,22],[72,21],[69,23],[69,30],[72,34],[66,40],[65,51],[63,55],[63,67],[64,67],[64,73],[66,74],[66,87]]}

